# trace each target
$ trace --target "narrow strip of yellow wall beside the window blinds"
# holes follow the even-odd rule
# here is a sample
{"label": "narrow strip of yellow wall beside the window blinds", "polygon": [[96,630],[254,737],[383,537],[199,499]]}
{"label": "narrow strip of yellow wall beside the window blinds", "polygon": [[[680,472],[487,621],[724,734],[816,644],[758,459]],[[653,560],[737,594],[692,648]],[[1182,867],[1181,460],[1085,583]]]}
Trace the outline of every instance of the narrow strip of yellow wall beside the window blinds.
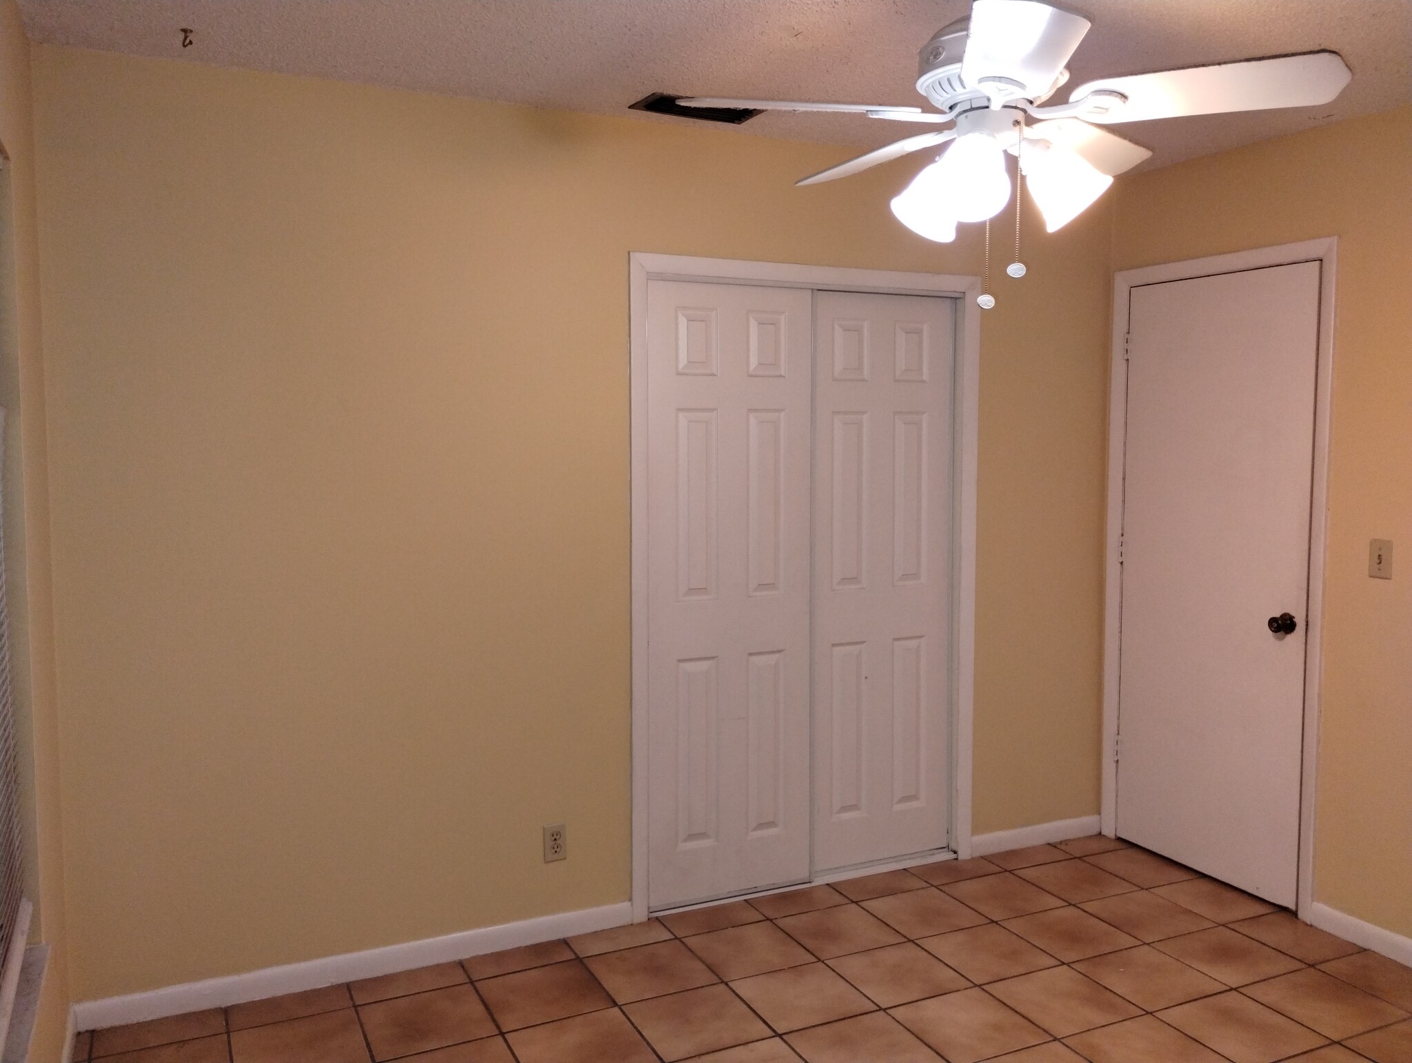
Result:
{"label": "narrow strip of yellow wall beside the window blinds", "polygon": [[7,160],[0,189],[6,591],[21,754],[25,892],[35,902],[30,937],[51,946],[31,1045],[35,1060],[49,1060],[62,1050],[69,991],[30,45],[14,0],[0,3],[0,147]]}

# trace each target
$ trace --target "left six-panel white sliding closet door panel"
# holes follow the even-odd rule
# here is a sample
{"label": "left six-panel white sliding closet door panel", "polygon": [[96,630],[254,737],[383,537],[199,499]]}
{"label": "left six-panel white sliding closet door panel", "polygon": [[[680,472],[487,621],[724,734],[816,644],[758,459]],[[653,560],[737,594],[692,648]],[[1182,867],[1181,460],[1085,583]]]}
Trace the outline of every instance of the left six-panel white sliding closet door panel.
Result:
{"label": "left six-panel white sliding closet door panel", "polygon": [[648,903],[809,877],[810,294],[648,285]]}

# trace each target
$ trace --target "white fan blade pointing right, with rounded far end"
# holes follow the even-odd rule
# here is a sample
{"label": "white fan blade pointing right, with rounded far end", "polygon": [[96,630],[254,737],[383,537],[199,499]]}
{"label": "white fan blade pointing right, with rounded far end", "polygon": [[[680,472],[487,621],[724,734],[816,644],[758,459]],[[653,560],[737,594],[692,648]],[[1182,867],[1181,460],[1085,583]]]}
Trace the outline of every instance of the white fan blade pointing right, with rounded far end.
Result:
{"label": "white fan blade pointing right, with rounded far end", "polygon": [[1117,103],[1103,114],[1084,116],[1089,121],[1108,124],[1231,110],[1312,107],[1329,103],[1351,78],[1339,52],[1305,52],[1130,78],[1101,78],[1080,85],[1069,99],[1079,100],[1097,89],[1121,92],[1128,97],[1127,103]]}

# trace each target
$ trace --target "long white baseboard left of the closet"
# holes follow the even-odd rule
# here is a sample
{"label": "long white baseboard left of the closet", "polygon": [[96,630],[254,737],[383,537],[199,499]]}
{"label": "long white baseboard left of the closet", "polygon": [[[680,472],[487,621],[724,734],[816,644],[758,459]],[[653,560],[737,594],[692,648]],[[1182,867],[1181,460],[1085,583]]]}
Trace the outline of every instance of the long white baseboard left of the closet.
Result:
{"label": "long white baseboard left of the closet", "polygon": [[[230,1004],[280,997],[285,992],[316,990],[322,985],[335,985],[356,978],[373,978],[393,971],[408,971],[433,963],[463,960],[469,956],[549,942],[555,937],[606,930],[610,926],[623,926],[630,922],[633,922],[633,905],[624,901],[579,912],[545,915],[518,923],[462,930],[445,937],[428,937],[421,942],[388,944],[383,949],[369,949],[360,953],[326,956],[321,960],[265,967],[258,971],[206,978],[184,985],[168,985],[147,992],[79,1001],[73,1005],[73,1014],[80,1031],[121,1026],[128,1022],[161,1019],[202,1008],[223,1008]],[[72,1038],[69,1040],[72,1042]]]}

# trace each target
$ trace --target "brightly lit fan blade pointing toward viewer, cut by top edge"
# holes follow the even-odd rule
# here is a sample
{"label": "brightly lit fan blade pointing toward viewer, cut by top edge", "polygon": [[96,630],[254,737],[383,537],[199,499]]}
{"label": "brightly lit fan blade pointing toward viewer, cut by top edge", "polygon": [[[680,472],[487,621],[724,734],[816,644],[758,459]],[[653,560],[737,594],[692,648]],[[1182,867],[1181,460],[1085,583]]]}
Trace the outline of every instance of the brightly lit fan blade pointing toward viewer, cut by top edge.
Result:
{"label": "brightly lit fan blade pointing toward viewer, cut by top edge", "polygon": [[1024,86],[1024,96],[1042,96],[1053,88],[1089,25],[1087,18],[1035,0],[976,0],[962,80],[976,89],[983,78],[1008,78]]}

